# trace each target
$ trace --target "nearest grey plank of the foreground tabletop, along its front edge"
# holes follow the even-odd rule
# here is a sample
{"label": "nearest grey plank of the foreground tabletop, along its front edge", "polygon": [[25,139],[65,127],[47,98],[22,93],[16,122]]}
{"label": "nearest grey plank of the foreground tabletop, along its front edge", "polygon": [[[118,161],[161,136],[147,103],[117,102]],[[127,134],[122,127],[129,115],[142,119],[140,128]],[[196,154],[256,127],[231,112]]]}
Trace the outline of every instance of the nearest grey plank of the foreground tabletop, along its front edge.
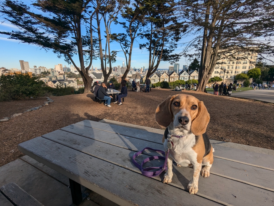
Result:
{"label": "nearest grey plank of the foreground tabletop, along its front edge", "polygon": [[42,137],[18,148],[118,205],[218,205]]}

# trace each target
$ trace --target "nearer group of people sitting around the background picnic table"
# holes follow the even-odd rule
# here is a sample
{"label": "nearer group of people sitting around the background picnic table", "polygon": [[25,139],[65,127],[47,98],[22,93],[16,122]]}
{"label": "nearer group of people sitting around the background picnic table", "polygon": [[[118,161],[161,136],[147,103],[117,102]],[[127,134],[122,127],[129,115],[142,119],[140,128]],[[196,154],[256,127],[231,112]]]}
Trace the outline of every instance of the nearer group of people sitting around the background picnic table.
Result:
{"label": "nearer group of people sitting around the background picnic table", "polygon": [[[117,94],[115,102],[113,102],[114,104],[118,103],[118,105],[121,105],[121,99],[127,96],[126,80],[123,80],[121,82],[121,85],[122,88],[120,94]],[[96,81],[93,83],[93,86],[90,90],[94,94],[95,98],[104,100],[105,106],[111,107],[110,103],[111,99],[113,99],[113,94],[108,94],[107,91],[115,90],[115,85],[113,84],[113,82],[108,82],[108,86],[106,86],[104,82]]]}

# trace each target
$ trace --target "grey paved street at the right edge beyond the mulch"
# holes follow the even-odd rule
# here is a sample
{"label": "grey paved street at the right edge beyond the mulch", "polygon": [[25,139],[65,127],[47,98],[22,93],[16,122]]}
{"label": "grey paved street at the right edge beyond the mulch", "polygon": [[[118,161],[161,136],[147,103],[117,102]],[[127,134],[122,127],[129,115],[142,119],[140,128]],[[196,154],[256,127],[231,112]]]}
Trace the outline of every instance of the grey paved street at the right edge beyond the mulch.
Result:
{"label": "grey paved street at the right edge beyond the mulch", "polygon": [[[213,94],[213,92],[209,92]],[[248,91],[241,91],[237,93],[232,93],[231,97],[242,97],[254,100],[260,100],[265,102],[274,103],[274,89],[256,89],[256,90],[248,90]]]}

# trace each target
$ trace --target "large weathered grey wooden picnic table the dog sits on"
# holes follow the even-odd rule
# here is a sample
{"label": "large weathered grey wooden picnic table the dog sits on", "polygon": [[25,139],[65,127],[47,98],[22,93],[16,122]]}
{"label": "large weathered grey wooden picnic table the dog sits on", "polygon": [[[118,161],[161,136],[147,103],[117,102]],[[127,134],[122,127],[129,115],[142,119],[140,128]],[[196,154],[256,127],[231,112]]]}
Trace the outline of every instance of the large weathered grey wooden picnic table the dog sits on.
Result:
{"label": "large weathered grey wooden picnic table the dog sits on", "polygon": [[[145,147],[164,150],[162,134],[84,120],[20,143],[24,154],[67,176],[73,203],[82,201],[81,185],[118,205],[235,205],[273,206],[273,156],[214,144],[209,178],[199,178],[196,195],[187,192],[193,169],[173,166],[172,182],[163,173],[141,174],[132,163]],[[155,152],[136,158],[141,163]],[[162,165],[154,160],[146,166]],[[80,185],[81,184],[81,185]]]}

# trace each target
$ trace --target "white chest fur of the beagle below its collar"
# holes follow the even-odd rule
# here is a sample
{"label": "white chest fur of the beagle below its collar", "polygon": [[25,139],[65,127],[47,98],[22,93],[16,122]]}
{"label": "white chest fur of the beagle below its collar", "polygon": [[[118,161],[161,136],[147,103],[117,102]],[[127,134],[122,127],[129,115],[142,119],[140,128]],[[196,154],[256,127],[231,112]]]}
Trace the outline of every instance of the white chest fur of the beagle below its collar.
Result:
{"label": "white chest fur of the beagle below its collar", "polygon": [[[167,147],[168,139],[164,142],[165,150]],[[169,155],[172,159],[180,166],[188,167],[190,164],[195,164],[197,162],[197,153],[192,149],[196,144],[195,135],[188,135],[182,138],[172,138],[174,146],[169,150]]]}

